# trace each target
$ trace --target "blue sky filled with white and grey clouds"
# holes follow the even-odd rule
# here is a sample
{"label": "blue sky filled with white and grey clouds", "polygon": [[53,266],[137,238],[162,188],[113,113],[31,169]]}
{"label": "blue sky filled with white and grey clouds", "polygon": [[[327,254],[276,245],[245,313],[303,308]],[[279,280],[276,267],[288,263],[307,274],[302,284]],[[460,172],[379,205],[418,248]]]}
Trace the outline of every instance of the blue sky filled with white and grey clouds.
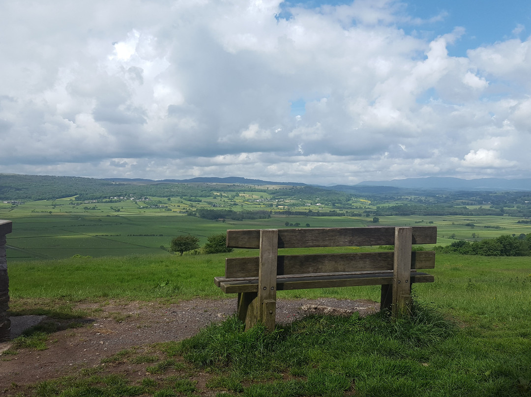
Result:
{"label": "blue sky filled with white and grey clouds", "polygon": [[0,172],[531,175],[528,0],[0,1]]}

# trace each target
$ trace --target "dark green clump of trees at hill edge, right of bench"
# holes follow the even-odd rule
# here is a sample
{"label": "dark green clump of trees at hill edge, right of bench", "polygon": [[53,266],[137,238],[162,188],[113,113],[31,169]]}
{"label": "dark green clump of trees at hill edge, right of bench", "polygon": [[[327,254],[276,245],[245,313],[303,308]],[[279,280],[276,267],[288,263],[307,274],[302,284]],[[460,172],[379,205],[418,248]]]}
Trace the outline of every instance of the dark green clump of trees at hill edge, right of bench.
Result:
{"label": "dark green clump of trees at hill edge, right of bench", "polygon": [[484,256],[531,256],[531,233],[519,236],[503,235],[474,241],[453,241],[447,246],[435,246],[436,252]]}

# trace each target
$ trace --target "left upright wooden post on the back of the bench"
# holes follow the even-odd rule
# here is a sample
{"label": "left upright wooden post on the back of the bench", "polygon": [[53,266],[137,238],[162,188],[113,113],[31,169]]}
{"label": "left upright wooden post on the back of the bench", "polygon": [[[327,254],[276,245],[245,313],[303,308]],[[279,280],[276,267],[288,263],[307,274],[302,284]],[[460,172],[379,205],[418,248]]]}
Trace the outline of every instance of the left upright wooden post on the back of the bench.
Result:
{"label": "left upright wooden post on the back of the bench", "polygon": [[[260,230],[260,264],[258,270],[258,316],[264,325],[272,325],[268,329],[275,329],[275,308],[272,315],[271,306],[275,306],[277,299],[277,253],[278,253],[278,230]],[[269,302],[268,308],[265,301]],[[271,320],[271,316],[272,320]]]}

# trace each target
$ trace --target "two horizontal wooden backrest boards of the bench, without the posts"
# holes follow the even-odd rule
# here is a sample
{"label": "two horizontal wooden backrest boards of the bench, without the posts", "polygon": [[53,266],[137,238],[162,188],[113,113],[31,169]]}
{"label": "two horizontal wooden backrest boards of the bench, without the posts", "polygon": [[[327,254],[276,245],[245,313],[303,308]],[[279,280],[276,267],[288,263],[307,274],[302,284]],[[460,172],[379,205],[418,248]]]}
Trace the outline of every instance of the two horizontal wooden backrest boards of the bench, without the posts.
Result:
{"label": "two horizontal wooden backrest boards of the bench, without the posts", "polygon": [[[410,229],[412,230],[410,244],[436,243],[437,228],[435,226],[417,226]],[[264,231],[273,232],[272,235],[278,234],[276,247],[275,241],[271,241],[270,247],[260,247],[260,230],[227,230],[227,247],[261,248],[262,255],[267,251],[276,252],[277,248],[395,245],[396,228],[378,226],[262,230],[262,232]],[[408,241],[406,241],[407,243]],[[386,251],[278,255],[276,274],[392,271],[396,254],[396,252]],[[411,269],[433,269],[435,266],[435,253],[433,251],[417,251],[410,252],[410,254]],[[258,277],[259,268],[260,257],[227,258],[225,277]]]}

